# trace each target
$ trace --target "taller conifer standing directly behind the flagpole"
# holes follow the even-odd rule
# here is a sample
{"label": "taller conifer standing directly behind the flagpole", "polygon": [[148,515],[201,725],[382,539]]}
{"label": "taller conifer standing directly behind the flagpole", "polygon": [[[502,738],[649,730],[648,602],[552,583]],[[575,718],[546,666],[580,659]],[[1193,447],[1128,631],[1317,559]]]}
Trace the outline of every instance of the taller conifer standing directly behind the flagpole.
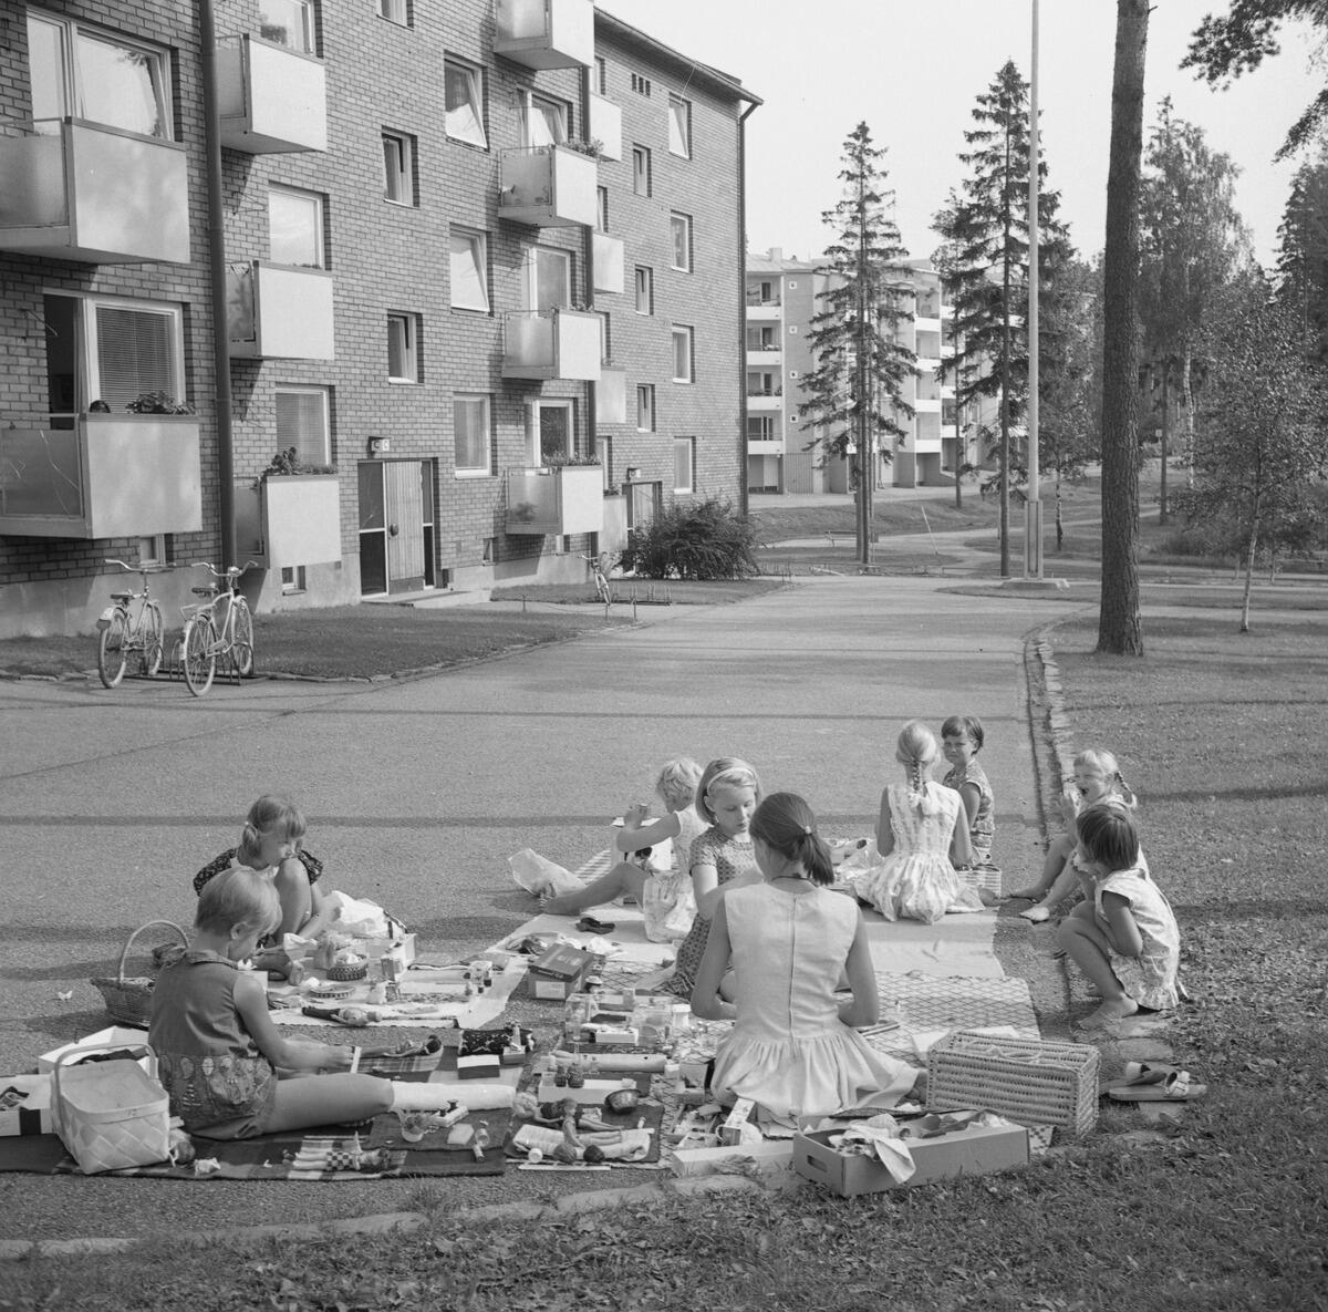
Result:
{"label": "taller conifer standing directly behind the flagpole", "polygon": [[[944,246],[935,256],[954,288],[955,405],[1000,400],[996,485],[1000,491],[1000,572],[1009,574],[1009,494],[1024,481],[1027,461],[1011,429],[1028,408],[1028,82],[1012,61],[1000,69],[973,109],[964,133],[969,170],[961,194],[932,226]],[[1042,297],[1054,292],[1056,270],[1070,256],[1060,195],[1044,183],[1038,161],[1038,278]],[[1042,301],[1040,301],[1041,304]]]}

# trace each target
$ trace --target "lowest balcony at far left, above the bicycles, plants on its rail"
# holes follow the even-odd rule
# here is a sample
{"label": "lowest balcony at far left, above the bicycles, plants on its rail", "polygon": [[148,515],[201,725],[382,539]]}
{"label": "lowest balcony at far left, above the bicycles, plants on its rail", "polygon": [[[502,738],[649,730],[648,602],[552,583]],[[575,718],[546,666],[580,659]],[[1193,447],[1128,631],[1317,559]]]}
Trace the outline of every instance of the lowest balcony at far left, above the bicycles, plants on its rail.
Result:
{"label": "lowest balcony at far left, above the bicycles, plants on its rail", "polygon": [[73,426],[0,429],[0,534],[147,538],[203,527],[197,418],[49,420]]}

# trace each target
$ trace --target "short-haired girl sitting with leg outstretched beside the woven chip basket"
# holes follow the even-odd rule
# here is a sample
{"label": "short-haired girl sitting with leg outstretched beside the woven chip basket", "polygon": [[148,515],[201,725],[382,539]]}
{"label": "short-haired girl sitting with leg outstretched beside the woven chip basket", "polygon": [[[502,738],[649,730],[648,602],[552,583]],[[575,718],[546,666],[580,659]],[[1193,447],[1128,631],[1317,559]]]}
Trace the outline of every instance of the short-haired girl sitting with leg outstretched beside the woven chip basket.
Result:
{"label": "short-haired girl sitting with leg outstretched beside the woven chip basket", "polygon": [[355,1074],[357,1049],[283,1037],[268,1015],[263,976],[240,967],[282,915],[266,875],[223,871],[199,894],[189,949],[157,977],[147,1041],[171,1114],[190,1134],[247,1139],[382,1111],[441,1111],[457,1101],[499,1105],[493,1086],[462,1097],[456,1085]]}

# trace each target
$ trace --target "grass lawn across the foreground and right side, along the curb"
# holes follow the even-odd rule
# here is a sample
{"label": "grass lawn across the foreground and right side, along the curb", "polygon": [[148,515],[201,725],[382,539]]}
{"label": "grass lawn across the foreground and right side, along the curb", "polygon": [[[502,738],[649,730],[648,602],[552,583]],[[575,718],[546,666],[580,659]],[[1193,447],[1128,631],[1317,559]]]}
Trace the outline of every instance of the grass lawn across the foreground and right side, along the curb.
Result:
{"label": "grass lawn across the foreground and right side, along the curb", "polygon": [[1093,624],[1053,640],[1076,742],[1120,756],[1181,920],[1197,1001],[1169,1038],[1208,1094],[1175,1121],[1104,1104],[1097,1133],[1027,1170],[855,1200],[728,1192],[477,1228],[429,1183],[410,1234],[23,1262],[0,1308],[1323,1308],[1325,624],[1145,629],[1142,660],[1092,655]]}

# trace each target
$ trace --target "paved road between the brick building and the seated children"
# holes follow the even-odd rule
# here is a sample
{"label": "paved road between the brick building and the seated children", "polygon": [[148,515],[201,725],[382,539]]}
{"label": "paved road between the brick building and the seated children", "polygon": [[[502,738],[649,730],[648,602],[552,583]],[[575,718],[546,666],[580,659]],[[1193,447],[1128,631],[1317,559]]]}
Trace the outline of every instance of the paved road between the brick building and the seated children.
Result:
{"label": "paved road between the brick building and the seated children", "polygon": [[[0,1072],[100,1026],[89,976],[109,973],[153,916],[187,924],[189,876],[270,789],[305,807],[337,887],[389,906],[430,948],[463,952],[531,911],[510,853],[578,864],[668,756],[744,756],[768,790],[803,793],[825,831],[855,833],[895,776],[902,721],[972,712],[987,726],[997,859],[1027,868],[1038,813],[1023,635],[1066,607],[944,587],[826,578],[741,606],[643,607],[637,628],[402,684],[219,684],[203,700],[129,681],[0,684]],[[385,1210],[368,1192],[337,1214]],[[210,1189],[195,1194],[215,1206]],[[40,1234],[41,1191],[0,1177],[7,1195]],[[293,1196],[312,1215],[329,1202]],[[74,1232],[149,1224],[126,1216]]]}

